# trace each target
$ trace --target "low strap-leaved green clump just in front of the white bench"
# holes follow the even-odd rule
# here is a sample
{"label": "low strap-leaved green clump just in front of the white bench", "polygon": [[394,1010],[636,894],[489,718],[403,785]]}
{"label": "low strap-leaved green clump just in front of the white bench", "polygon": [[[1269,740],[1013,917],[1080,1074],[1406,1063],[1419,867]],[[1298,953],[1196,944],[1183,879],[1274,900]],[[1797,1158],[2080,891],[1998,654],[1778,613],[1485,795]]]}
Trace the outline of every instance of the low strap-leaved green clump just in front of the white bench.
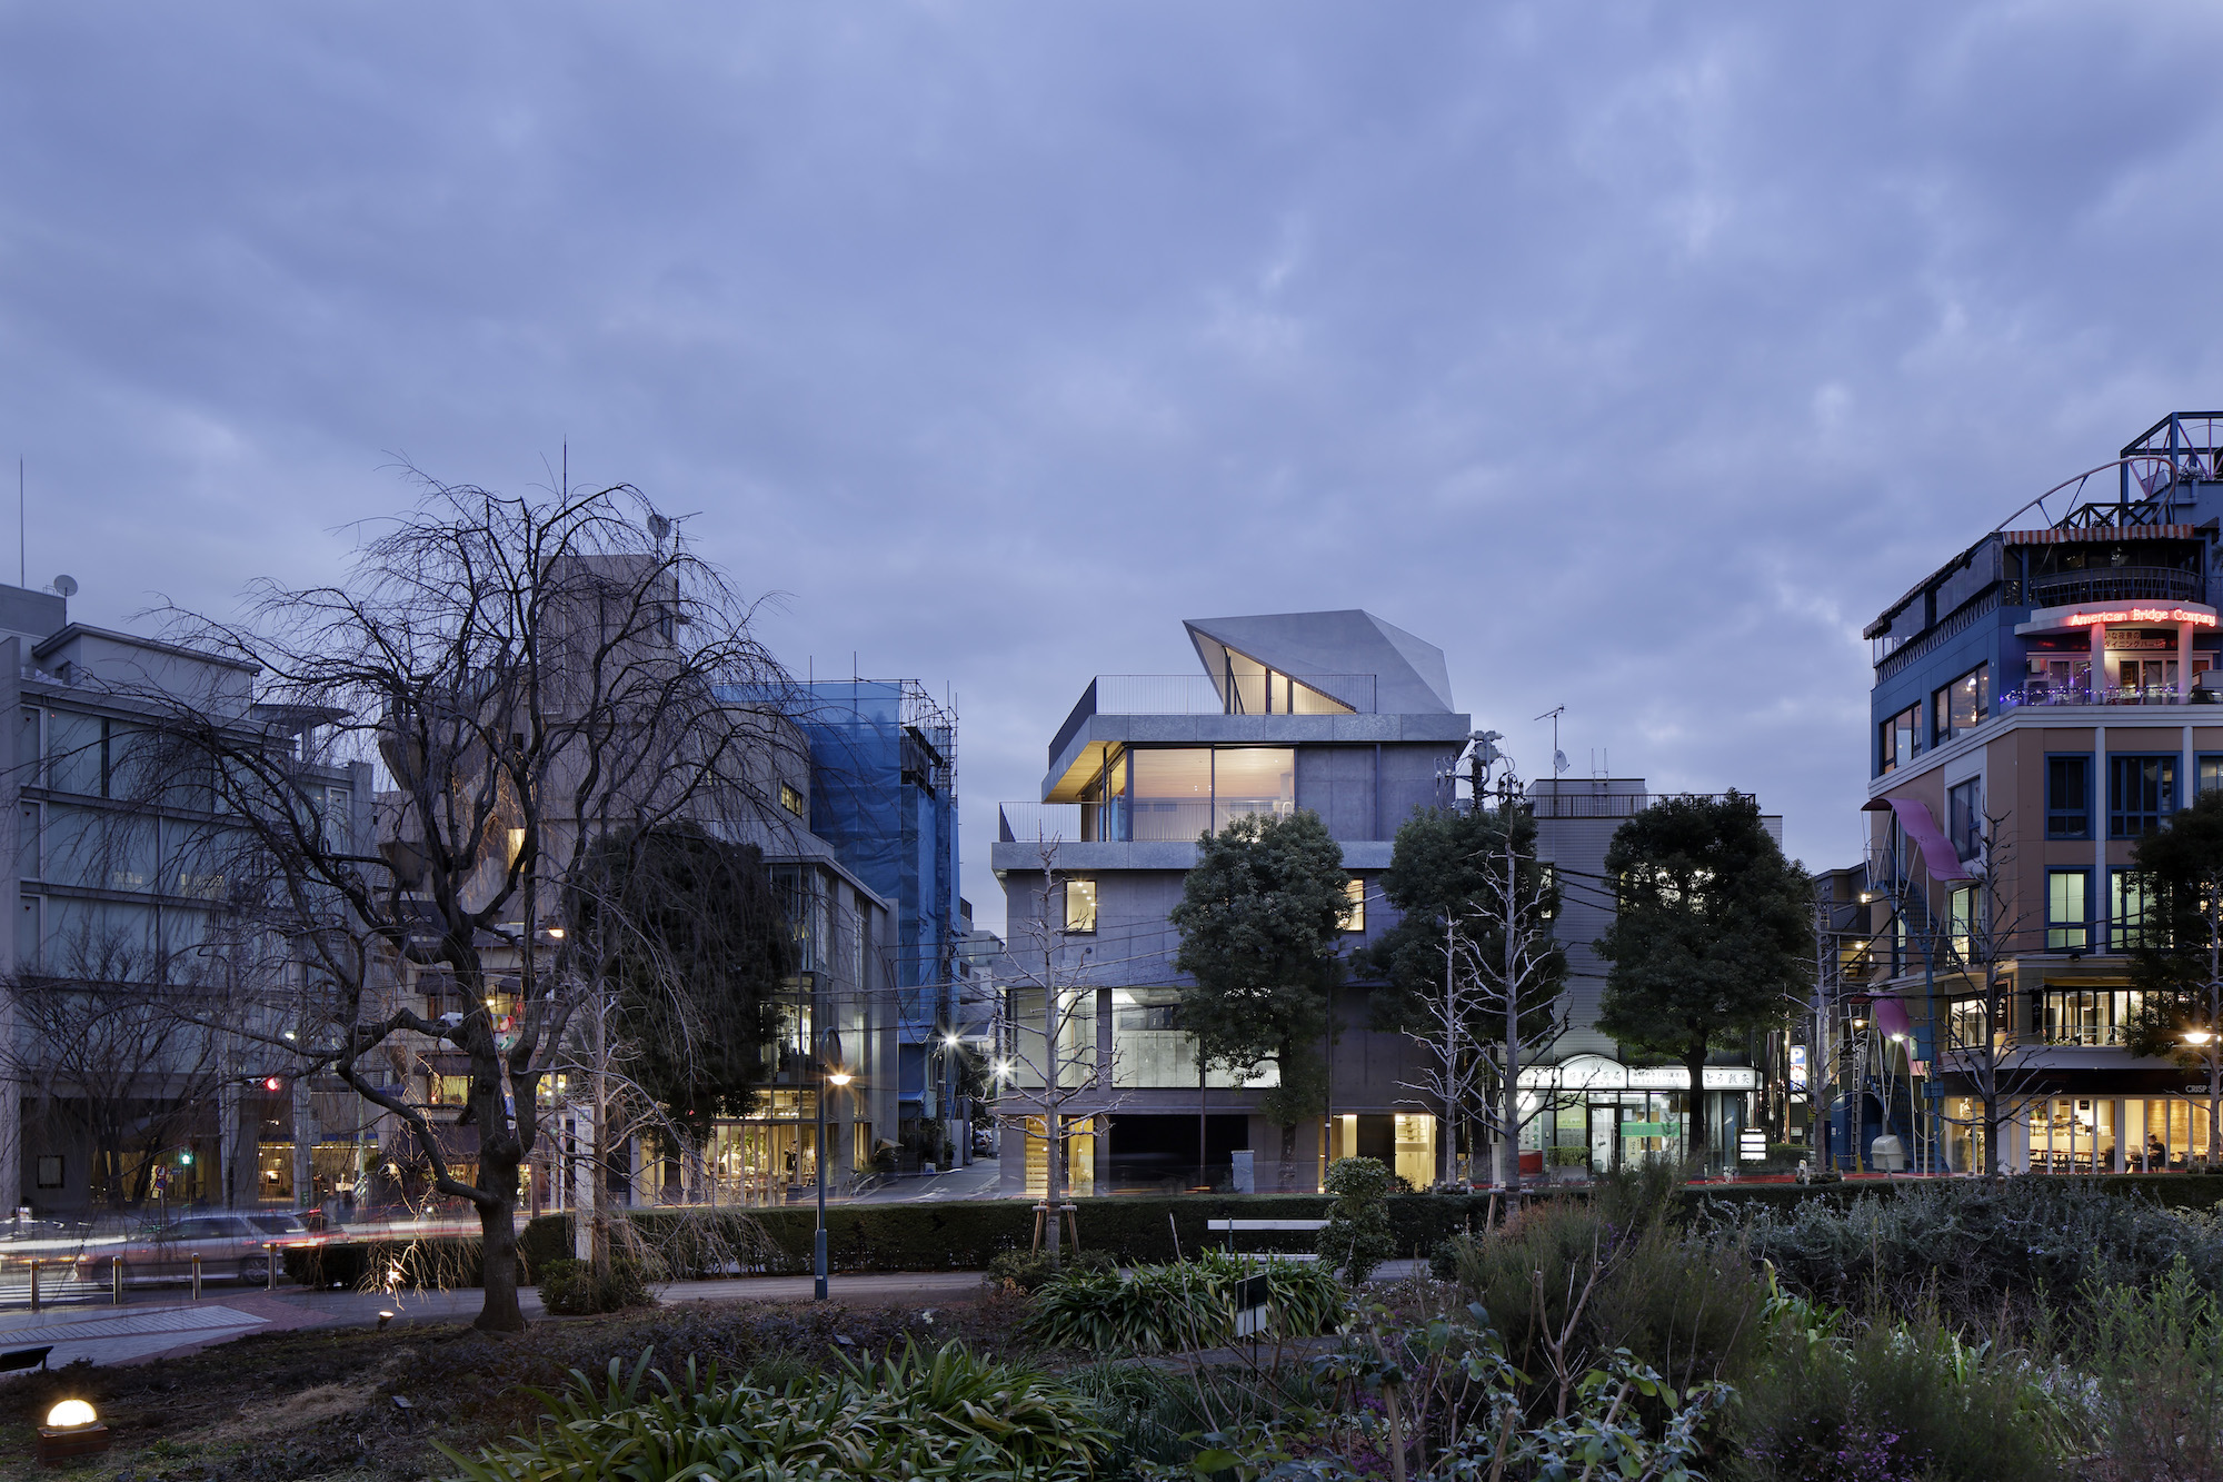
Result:
{"label": "low strap-leaved green clump just in front of the white bench", "polygon": [[1045,1282],[1027,1308],[1027,1333],[1051,1348],[1087,1353],[1178,1353],[1236,1337],[1236,1284],[1265,1271],[1267,1322],[1283,1337],[1309,1337],[1343,1317],[1343,1286],[1323,1264],[1245,1262],[1205,1253],[1194,1262],[1140,1266],[1129,1277],[1071,1271]]}

